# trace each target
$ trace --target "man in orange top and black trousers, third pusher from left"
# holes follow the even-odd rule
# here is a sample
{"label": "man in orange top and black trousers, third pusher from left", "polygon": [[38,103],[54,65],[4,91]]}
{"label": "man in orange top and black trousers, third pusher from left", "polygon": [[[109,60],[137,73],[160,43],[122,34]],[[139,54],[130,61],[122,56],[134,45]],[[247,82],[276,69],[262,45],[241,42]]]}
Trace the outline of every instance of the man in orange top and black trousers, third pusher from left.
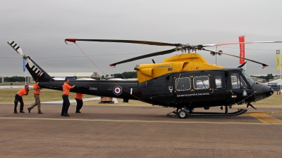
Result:
{"label": "man in orange top and black trousers, third pusher from left", "polygon": [[69,83],[70,80],[65,79],[65,83],[63,84],[63,107],[61,111],[62,117],[70,117],[70,115],[68,114],[68,107],[70,107],[71,103],[70,100],[68,100],[68,95],[70,94],[70,89],[75,88],[75,85],[70,86]]}

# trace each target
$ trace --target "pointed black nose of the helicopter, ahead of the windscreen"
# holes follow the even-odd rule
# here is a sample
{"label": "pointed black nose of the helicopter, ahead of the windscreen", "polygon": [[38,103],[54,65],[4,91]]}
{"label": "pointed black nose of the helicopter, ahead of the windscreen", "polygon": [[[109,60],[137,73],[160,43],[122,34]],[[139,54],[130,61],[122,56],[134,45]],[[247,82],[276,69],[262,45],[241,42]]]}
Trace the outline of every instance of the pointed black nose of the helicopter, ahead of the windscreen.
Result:
{"label": "pointed black nose of the helicopter, ahead of the windscreen", "polygon": [[274,94],[274,89],[266,86],[265,84],[256,82],[253,86],[253,90],[255,91],[255,101],[263,100],[268,98]]}

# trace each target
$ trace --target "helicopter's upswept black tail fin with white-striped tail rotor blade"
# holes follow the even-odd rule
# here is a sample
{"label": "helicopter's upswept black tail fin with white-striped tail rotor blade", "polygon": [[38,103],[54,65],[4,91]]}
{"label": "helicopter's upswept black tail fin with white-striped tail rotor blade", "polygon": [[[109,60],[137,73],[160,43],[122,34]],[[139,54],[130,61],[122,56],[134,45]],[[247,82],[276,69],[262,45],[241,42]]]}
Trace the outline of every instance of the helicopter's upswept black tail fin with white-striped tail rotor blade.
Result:
{"label": "helicopter's upswept black tail fin with white-striped tail rotor blade", "polygon": [[25,67],[27,70],[30,72],[32,78],[35,81],[54,81],[47,72],[45,72],[37,63],[35,63],[29,56],[25,56],[23,54],[22,48],[18,46],[18,44],[15,43],[15,41],[10,40],[8,41],[8,44],[18,52],[18,54],[22,57],[25,58]]}

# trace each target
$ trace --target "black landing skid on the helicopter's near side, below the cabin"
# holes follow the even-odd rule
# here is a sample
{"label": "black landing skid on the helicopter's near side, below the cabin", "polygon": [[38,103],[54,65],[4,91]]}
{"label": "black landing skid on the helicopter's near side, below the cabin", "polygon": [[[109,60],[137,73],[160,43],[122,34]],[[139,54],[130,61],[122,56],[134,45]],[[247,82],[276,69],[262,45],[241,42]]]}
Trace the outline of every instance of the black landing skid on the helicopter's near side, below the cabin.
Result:
{"label": "black landing skid on the helicopter's near side, below the cabin", "polygon": [[[221,113],[221,112],[190,112],[188,117],[234,117],[247,112],[246,109],[238,109],[237,112]],[[173,114],[171,114],[173,113]],[[166,114],[168,117],[178,117],[177,110]]]}

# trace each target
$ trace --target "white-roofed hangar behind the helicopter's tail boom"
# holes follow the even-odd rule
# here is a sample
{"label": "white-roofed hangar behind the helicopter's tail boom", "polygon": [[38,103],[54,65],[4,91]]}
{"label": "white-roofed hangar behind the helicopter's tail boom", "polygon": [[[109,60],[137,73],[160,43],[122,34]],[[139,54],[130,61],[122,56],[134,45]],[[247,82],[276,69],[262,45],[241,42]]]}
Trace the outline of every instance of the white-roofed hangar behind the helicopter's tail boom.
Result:
{"label": "white-roofed hangar behind the helicopter's tail boom", "polygon": [[[87,80],[87,79],[95,79],[95,80],[101,80],[101,77],[97,72],[48,72],[50,77],[56,79],[56,80],[64,80],[64,79],[70,79],[70,80]],[[35,81],[32,79],[32,77],[27,77],[27,83],[34,83]]]}

